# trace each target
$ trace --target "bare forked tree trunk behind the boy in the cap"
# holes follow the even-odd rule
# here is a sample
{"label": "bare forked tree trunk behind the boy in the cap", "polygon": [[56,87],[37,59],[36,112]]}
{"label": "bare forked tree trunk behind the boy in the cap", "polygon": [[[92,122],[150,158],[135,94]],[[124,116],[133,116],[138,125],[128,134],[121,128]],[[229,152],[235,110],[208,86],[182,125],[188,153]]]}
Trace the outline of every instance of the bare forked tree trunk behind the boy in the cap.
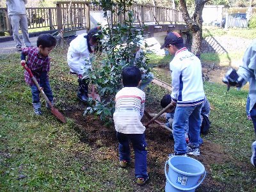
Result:
{"label": "bare forked tree trunk behind the boy in the cap", "polygon": [[204,4],[210,0],[195,0],[195,12],[192,17],[189,16],[186,0],[180,0],[180,12],[186,22],[186,25],[192,31],[192,46],[191,51],[200,58],[202,50],[202,12]]}

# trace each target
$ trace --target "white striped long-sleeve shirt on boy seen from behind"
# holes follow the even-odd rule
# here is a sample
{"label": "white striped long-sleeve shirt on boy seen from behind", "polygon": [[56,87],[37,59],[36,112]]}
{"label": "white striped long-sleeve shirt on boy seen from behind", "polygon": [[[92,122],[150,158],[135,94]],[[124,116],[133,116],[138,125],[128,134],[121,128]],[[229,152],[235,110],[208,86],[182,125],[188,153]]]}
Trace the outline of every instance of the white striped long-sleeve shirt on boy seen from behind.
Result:
{"label": "white striped long-sleeve shirt on boy seen from behind", "polygon": [[116,93],[114,113],[115,129],[124,134],[142,134],[145,93],[136,87],[124,87]]}

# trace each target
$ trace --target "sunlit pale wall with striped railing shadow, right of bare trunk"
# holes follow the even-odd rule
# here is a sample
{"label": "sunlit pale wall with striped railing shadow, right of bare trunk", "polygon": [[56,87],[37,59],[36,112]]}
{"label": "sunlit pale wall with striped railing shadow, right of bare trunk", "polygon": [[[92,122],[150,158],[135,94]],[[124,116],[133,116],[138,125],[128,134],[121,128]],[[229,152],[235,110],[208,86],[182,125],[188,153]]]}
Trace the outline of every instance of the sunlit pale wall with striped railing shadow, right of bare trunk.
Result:
{"label": "sunlit pale wall with striped railing shadow, right of bare trunk", "polygon": [[202,40],[202,52],[225,52],[245,51],[252,40],[247,38],[230,36],[207,36]]}

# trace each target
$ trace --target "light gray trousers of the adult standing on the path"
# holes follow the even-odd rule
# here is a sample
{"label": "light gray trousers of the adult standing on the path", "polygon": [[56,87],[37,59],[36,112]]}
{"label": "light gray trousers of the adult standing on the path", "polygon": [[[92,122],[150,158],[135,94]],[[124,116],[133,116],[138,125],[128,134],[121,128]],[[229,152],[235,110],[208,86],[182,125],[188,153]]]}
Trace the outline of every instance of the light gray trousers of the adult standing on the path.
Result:
{"label": "light gray trousers of the adult standing on the path", "polygon": [[28,18],[26,14],[20,14],[20,15],[9,15],[9,18],[11,20],[12,24],[12,30],[13,30],[13,39],[16,43],[16,46],[21,46],[22,43],[20,41],[19,36],[19,27],[22,31],[22,36],[24,40],[24,44],[29,47],[31,46],[31,42],[28,38]]}

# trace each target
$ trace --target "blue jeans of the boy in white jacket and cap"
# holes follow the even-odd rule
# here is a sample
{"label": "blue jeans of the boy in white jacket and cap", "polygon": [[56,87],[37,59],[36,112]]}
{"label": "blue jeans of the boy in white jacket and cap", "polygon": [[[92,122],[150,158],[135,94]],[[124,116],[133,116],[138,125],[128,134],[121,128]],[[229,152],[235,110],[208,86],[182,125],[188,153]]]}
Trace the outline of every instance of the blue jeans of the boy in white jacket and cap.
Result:
{"label": "blue jeans of the boy in white jacket and cap", "polygon": [[202,104],[196,106],[180,107],[177,106],[173,118],[173,138],[174,152],[177,154],[186,154],[187,144],[185,140],[186,124],[188,120],[189,143],[192,147],[199,147],[200,125]]}

